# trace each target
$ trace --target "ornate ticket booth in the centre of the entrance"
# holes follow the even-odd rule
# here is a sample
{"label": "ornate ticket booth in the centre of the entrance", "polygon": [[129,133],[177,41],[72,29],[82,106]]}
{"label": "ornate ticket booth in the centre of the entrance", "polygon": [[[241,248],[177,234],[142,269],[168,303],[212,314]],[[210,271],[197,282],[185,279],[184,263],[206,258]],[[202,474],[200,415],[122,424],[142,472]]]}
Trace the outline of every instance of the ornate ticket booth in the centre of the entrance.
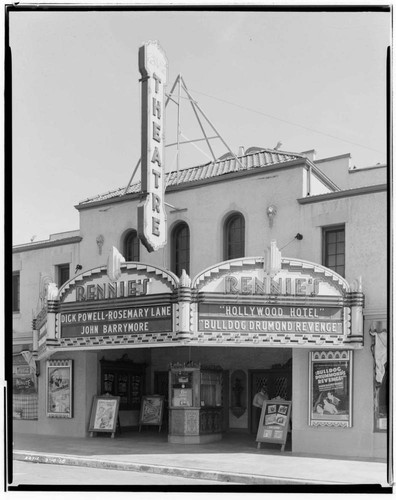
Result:
{"label": "ornate ticket booth in the centre of the entrance", "polygon": [[222,438],[223,370],[199,363],[172,363],[169,369],[171,443],[207,443]]}

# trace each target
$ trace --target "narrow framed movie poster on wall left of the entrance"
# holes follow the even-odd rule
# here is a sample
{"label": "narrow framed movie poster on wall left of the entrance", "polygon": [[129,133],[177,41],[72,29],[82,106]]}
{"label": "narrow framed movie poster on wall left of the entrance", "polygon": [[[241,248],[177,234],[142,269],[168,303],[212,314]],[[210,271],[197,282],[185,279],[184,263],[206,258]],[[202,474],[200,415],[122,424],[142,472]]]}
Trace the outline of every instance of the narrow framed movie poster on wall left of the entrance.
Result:
{"label": "narrow framed movie poster on wall left of the entrance", "polygon": [[47,417],[72,418],[73,361],[47,361]]}

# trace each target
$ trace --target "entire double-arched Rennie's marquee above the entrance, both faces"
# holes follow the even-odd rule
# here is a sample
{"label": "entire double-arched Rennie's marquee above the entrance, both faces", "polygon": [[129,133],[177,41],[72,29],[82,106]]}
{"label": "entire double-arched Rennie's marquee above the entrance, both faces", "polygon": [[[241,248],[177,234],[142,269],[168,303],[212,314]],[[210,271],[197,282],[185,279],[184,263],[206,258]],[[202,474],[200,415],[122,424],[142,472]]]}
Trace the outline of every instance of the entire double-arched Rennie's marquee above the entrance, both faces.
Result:
{"label": "entire double-arched Rennie's marquee above the entrance, both faces", "polygon": [[185,343],[361,348],[361,280],[349,284],[271,248],[264,257],[220,262],[192,281],[138,262],[121,262],[116,280],[111,266],[86,271],[48,300],[39,352]]}

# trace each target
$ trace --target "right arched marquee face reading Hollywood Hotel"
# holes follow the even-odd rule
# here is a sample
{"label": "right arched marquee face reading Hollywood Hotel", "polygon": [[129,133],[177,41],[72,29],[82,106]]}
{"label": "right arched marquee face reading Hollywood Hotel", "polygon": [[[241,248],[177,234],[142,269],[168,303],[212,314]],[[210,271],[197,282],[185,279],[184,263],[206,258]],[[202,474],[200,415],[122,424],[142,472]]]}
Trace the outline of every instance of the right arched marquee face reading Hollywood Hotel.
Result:
{"label": "right arched marquee face reading Hollywood Hotel", "polygon": [[263,257],[221,262],[194,278],[193,340],[358,346],[363,294],[354,286],[319,264],[282,258],[271,242]]}

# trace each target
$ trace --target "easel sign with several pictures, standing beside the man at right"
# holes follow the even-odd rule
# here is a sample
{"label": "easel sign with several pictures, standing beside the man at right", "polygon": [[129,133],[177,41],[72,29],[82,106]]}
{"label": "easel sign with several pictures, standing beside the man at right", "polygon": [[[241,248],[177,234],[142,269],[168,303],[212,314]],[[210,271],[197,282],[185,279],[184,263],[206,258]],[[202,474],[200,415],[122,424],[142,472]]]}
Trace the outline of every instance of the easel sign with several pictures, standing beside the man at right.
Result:
{"label": "easel sign with several pictures, standing beside the man at right", "polygon": [[261,443],[276,443],[285,451],[290,414],[291,401],[272,399],[264,402],[256,437],[258,449]]}

